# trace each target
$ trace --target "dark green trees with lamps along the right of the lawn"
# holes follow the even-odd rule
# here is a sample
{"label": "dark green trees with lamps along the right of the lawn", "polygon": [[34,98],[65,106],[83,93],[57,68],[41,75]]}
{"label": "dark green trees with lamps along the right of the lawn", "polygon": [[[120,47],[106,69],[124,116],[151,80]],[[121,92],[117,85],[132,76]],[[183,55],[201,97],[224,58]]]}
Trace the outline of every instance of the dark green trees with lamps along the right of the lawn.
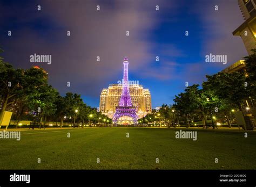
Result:
{"label": "dark green trees with lamps along the right of the lawn", "polygon": [[[163,104],[158,112],[153,111],[140,122],[149,124],[159,119],[159,123],[162,121],[169,127],[173,123],[190,127],[192,121],[200,120],[203,128],[217,128],[217,120],[222,119],[231,128],[230,118],[234,117],[234,112],[241,111],[245,118],[246,113],[253,113],[254,110],[256,50],[253,51],[254,54],[245,57],[245,71],[206,75],[207,81],[201,86],[194,84],[187,87],[175,96],[172,106]],[[246,130],[246,126],[244,128]]]}

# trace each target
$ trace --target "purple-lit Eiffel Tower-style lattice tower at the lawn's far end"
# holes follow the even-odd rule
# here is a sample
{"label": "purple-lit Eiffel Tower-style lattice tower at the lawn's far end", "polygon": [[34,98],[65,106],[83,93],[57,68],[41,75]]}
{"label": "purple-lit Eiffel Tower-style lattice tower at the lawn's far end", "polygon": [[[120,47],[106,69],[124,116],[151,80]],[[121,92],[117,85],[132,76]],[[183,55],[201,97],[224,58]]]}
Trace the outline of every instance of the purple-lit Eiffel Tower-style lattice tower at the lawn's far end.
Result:
{"label": "purple-lit Eiffel Tower-style lattice tower at the lawn's far end", "polygon": [[134,126],[138,124],[138,116],[136,114],[136,107],[132,105],[132,100],[130,96],[130,85],[128,80],[128,59],[124,59],[124,79],[123,79],[123,90],[122,95],[119,100],[119,106],[116,107],[116,113],[113,116],[113,124],[116,126],[117,121],[120,117],[128,116],[131,117],[134,123]]}

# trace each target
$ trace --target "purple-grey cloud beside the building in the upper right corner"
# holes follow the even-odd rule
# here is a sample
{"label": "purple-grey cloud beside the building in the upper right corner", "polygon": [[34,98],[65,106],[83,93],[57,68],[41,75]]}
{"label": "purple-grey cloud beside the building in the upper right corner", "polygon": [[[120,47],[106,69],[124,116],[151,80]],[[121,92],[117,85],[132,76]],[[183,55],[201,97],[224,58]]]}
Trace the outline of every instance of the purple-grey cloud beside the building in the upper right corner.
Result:
{"label": "purple-grey cloud beside the building in the upper right corner", "polygon": [[[215,10],[215,5],[218,6],[218,11]],[[202,8],[199,9],[198,6]],[[193,11],[197,12],[204,25],[200,33],[206,38],[202,56],[210,53],[227,55],[227,67],[247,55],[241,38],[232,34],[244,22],[237,1],[199,1],[194,4]],[[215,66],[221,65],[216,63]]]}

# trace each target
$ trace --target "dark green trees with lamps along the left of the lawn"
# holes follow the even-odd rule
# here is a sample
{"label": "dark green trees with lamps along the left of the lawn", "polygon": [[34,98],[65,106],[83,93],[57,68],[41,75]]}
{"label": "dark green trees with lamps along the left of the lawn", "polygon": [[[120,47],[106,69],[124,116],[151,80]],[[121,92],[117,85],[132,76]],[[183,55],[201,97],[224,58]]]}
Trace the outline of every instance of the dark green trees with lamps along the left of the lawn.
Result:
{"label": "dark green trees with lamps along the left of the lawn", "polygon": [[[0,52],[3,52],[1,50]],[[77,93],[63,97],[48,84],[48,74],[38,67],[15,69],[0,57],[0,104],[2,110],[12,111],[12,120],[32,120],[45,125],[46,121],[77,124],[111,124],[111,119],[83,103]]]}

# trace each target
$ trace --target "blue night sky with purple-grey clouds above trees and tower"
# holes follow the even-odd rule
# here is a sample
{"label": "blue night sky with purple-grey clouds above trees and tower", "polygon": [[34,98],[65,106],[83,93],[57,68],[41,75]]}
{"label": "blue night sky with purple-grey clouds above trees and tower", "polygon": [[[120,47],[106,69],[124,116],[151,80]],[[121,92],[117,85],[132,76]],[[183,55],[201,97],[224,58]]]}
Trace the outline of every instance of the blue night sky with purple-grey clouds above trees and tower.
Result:
{"label": "blue night sky with purple-grey clouds above trees and tower", "polygon": [[[156,107],[173,103],[185,82],[201,83],[246,56],[232,35],[243,21],[237,0],[0,0],[1,55],[15,68],[43,67],[61,95],[79,93],[93,107],[103,88],[122,80],[127,56],[129,79],[150,89]],[[52,63],[31,63],[35,53],[52,55]],[[210,53],[227,55],[227,64],[206,63]]]}

